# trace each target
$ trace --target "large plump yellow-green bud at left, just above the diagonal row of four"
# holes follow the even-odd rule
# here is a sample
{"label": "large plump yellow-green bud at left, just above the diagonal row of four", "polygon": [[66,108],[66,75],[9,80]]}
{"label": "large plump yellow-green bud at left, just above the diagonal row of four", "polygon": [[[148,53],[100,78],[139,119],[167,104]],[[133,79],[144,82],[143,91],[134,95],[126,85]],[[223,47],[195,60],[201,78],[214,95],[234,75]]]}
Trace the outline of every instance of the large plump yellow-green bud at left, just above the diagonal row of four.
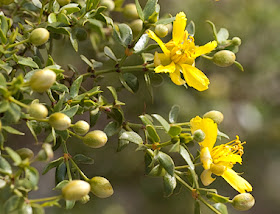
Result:
{"label": "large plump yellow-green bud at left, just above the diagonal row of four", "polygon": [[55,82],[56,74],[50,69],[36,71],[30,81],[30,87],[33,91],[44,92],[48,90]]}

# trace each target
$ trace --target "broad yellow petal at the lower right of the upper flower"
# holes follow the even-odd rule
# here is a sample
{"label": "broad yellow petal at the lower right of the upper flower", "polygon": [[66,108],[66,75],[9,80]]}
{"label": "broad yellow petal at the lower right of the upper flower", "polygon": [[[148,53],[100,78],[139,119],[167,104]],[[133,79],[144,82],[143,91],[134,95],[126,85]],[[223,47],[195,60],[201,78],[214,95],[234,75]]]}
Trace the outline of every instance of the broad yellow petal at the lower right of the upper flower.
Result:
{"label": "broad yellow petal at the lower right of the upper flower", "polygon": [[183,69],[184,78],[190,87],[198,91],[208,89],[210,81],[202,71],[188,64],[181,64],[181,67]]}

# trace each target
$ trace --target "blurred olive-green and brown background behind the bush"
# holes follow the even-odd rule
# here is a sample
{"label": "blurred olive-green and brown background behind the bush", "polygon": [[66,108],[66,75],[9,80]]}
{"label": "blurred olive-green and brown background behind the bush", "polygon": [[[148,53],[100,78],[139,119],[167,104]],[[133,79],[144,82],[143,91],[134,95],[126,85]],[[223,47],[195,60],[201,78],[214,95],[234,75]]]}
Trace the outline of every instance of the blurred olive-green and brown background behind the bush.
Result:
{"label": "blurred olive-green and brown background behind the bush", "polygon": [[[128,3],[127,1],[126,3]],[[142,5],[145,1],[140,1]],[[280,4],[279,0],[159,0],[161,15],[180,11],[187,14],[188,21],[196,24],[196,44],[203,45],[213,40],[210,26],[205,20],[211,20],[219,29],[225,27],[230,38],[242,39],[237,61],[245,71],[241,72],[234,65],[219,68],[205,59],[197,60],[197,67],[210,79],[209,90],[197,92],[192,88],[174,85],[167,76],[165,82],[154,88],[154,100],[147,96],[143,75],[139,74],[140,89],[136,95],[123,91],[120,100],[126,103],[126,117],[133,122],[140,122],[137,115],[144,111],[148,114],[159,113],[167,118],[172,105],[181,107],[180,120],[187,121],[196,115],[202,116],[210,110],[223,112],[225,119],[219,129],[231,139],[239,135],[244,146],[243,165],[235,166],[237,172],[253,186],[255,206],[243,213],[279,213],[280,203]],[[116,18],[120,15],[114,13]],[[121,20],[121,16],[120,16]],[[168,41],[170,38],[166,38]],[[56,44],[54,59],[58,64],[73,62],[81,72],[86,65],[79,55],[93,57],[95,53],[83,42],[82,50],[75,53],[67,44]],[[135,59],[135,63],[137,59]],[[134,62],[132,62],[134,63]],[[141,62],[138,62],[141,63]],[[135,73],[135,72],[134,72]],[[117,74],[107,75],[101,83],[120,86]],[[88,84],[92,84],[89,82]],[[87,117],[83,117],[88,121]],[[77,118],[78,120],[79,118]],[[94,129],[103,129],[108,123],[101,117]],[[81,168],[88,177],[103,176],[110,180],[114,195],[108,199],[99,199],[91,195],[85,205],[77,203],[73,210],[48,208],[47,213],[98,213],[98,214],[187,214],[193,211],[193,199],[186,189],[178,189],[169,198],[163,196],[162,179],[145,175],[142,152],[135,152],[129,145],[121,152],[116,152],[117,138],[112,137],[105,147],[88,149],[78,140],[69,144],[70,154],[86,153],[95,160],[90,167]],[[57,154],[60,155],[60,154]],[[39,166],[39,167],[43,167]],[[54,170],[41,177],[40,192],[34,197],[47,197],[54,193]],[[234,191],[221,177],[211,184],[219,193],[234,197]],[[211,213],[204,209],[203,213]],[[240,213],[229,206],[229,213]]]}

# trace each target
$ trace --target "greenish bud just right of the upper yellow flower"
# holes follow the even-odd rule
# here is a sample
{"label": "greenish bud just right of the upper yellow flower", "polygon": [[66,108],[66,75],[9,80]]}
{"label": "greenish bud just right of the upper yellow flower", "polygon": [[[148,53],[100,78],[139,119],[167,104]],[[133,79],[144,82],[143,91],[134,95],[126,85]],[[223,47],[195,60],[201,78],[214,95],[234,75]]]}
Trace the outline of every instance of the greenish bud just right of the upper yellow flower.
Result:
{"label": "greenish bud just right of the upper yellow flower", "polygon": [[214,54],[213,62],[220,67],[228,67],[235,61],[235,54],[229,50],[222,50]]}

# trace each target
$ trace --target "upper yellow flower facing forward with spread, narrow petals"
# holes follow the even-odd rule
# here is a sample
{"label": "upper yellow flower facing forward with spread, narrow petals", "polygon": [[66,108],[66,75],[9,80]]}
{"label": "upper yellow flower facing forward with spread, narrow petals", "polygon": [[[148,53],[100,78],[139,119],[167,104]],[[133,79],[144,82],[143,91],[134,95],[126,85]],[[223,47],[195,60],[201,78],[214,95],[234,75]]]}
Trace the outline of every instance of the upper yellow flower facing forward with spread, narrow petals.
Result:
{"label": "upper yellow flower facing forward with spread, narrow petals", "polygon": [[[195,59],[214,50],[217,42],[212,41],[200,47],[195,46],[194,38],[185,30],[186,25],[185,13],[178,13],[173,23],[173,39],[166,44],[153,31],[147,31],[149,37],[155,40],[163,51],[163,53],[155,53],[155,72],[169,73],[171,80],[176,85],[183,85],[187,82],[189,86],[198,91],[204,91],[208,89],[210,82],[206,75],[194,66]],[[181,78],[181,73],[185,80]]]}

